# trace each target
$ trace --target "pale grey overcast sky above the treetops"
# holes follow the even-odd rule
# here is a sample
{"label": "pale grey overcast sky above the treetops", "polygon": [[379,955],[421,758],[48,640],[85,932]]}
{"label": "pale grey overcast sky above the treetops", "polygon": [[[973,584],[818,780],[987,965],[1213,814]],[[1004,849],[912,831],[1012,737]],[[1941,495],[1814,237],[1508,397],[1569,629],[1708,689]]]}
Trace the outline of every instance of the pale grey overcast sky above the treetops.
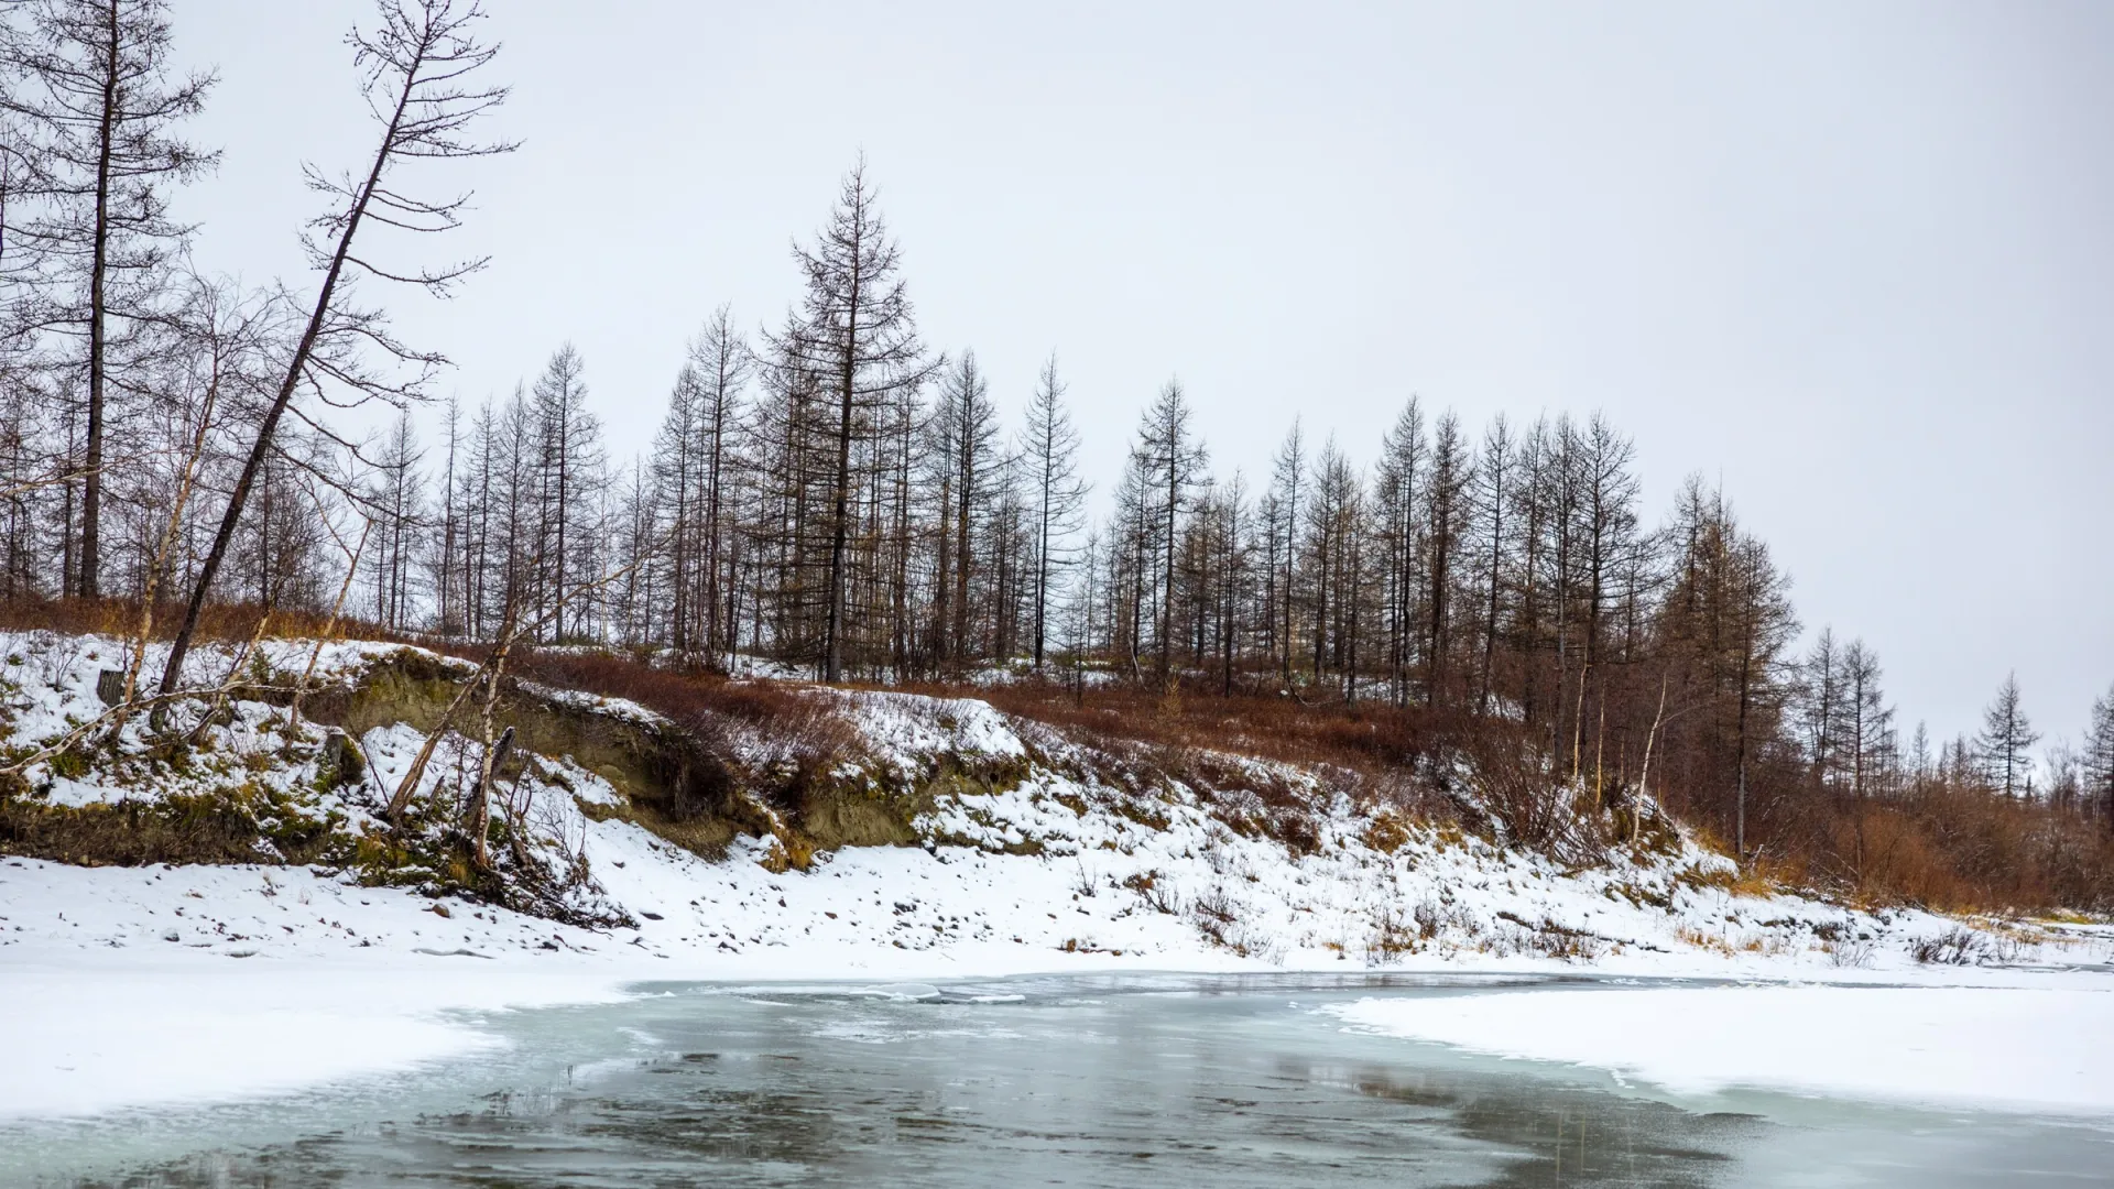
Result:
{"label": "pale grey overcast sky above the treetops", "polygon": [[[638,451],[865,150],[926,339],[1013,417],[1055,351],[1101,489],[1169,377],[1251,478],[1294,415],[1370,461],[1410,394],[1598,408],[1653,520],[1723,482],[1905,730],[2017,669],[2076,738],[2114,681],[2114,4],[493,11],[522,150],[452,171],[493,269],[397,307],[465,402],[573,341]],[[222,74],[199,260],[309,290],[300,161],[370,152],[370,4],[173,15]]]}

